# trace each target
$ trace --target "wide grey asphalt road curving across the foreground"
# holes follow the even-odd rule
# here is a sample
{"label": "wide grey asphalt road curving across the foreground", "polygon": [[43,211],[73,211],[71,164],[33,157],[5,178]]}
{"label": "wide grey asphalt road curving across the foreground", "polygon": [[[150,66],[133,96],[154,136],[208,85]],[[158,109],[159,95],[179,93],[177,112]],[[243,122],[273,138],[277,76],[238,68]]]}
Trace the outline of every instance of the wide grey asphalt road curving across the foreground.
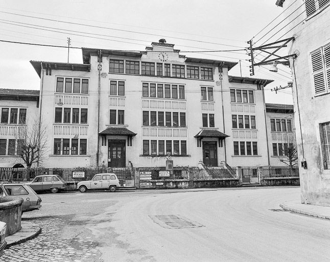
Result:
{"label": "wide grey asphalt road curving across the foreground", "polygon": [[42,208],[22,218],[61,220],[60,238],[76,239],[74,248],[90,241],[98,251],[89,261],[329,261],[330,221],[272,210],[299,193],[269,187],[42,194]]}

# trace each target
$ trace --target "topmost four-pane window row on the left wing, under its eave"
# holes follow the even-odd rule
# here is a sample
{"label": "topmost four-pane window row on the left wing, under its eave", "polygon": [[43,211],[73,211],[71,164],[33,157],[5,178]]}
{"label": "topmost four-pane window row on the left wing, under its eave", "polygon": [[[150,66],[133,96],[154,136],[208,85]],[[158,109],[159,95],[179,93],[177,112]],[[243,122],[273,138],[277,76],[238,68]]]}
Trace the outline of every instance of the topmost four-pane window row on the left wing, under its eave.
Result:
{"label": "topmost four-pane window row on the left wing, under its eave", "polygon": [[59,93],[88,94],[88,79],[58,77],[56,79],[56,92]]}

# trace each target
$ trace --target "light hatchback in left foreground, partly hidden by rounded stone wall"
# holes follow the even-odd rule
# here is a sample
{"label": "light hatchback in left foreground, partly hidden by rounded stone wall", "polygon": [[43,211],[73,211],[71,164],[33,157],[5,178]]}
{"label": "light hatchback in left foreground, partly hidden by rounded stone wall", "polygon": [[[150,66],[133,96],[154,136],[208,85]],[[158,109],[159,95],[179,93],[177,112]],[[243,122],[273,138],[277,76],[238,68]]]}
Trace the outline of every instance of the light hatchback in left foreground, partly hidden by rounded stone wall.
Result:
{"label": "light hatchback in left foreground, partly hidden by rounded stone wall", "polygon": [[0,195],[14,195],[23,199],[22,212],[32,211],[41,207],[41,198],[26,184],[0,184]]}

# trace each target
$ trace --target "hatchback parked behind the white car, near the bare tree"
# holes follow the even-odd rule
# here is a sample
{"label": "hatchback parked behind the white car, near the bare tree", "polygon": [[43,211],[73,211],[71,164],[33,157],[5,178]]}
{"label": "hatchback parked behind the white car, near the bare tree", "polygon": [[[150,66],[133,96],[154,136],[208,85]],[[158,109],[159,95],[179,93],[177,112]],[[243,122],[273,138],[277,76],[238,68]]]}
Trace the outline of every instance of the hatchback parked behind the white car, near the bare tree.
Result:
{"label": "hatchback parked behind the white car, near the bare tree", "polygon": [[66,187],[66,182],[57,174],[37,176],[31,183],[27,183],[34,191],[51,191],[57,193]]}

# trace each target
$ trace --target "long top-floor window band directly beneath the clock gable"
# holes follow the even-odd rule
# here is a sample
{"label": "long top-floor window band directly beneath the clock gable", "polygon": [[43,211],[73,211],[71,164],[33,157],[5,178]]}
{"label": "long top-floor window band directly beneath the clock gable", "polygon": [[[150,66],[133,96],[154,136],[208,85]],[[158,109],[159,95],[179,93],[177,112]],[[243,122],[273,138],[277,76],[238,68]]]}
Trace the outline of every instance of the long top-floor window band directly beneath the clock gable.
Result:
{"label": "long top-floor window band directly beneath the clock gable", "polygon": [[[139,61],[129,61],[125,60],[126,65],[126,74],[135,74],[138,75],[140,73],[140,62]],[[156,69],[156,71],[155,71]],[[124,60],[110,59],[109,60],[109,72],[110,73],[120,73],[124,74]],[[200,78],[204,80],[213,80],[213,69],[212,68],[200,68]],[[154,62],[141,62],[141,74],[146,76],[167,76],[171,77],[171,64],[164,64],[164,72],[163,72],[163,64]],[[182,64],[172,64],[172,77],[184,78],[184,65]],[[199,67],[195,67],[192,65],[187,65],[186,67],[186,77],[199,79]]]}

